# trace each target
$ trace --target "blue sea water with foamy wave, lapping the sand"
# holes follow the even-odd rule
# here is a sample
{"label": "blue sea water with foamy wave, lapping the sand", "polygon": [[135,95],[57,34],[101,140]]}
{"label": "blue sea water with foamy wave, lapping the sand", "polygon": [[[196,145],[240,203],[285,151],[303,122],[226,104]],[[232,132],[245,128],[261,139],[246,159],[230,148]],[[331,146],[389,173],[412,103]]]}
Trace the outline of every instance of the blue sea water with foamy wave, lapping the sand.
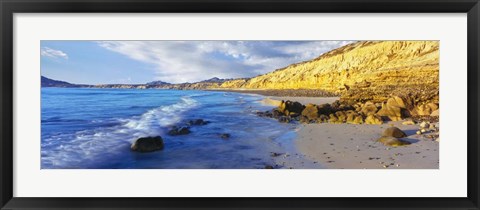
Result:
{"label": "blue sea water with foamy wave, lapping the sand", "polygon": [[[261,118],[262,96],[195,90],[42,88],[41,167],[101,169],[264,168],[291,143],[294,125]],[[168,136],[191,119],[211,123]],[[231,134],[230,139],[219,137]],[[130,151],[145,136],[165,149]]]}

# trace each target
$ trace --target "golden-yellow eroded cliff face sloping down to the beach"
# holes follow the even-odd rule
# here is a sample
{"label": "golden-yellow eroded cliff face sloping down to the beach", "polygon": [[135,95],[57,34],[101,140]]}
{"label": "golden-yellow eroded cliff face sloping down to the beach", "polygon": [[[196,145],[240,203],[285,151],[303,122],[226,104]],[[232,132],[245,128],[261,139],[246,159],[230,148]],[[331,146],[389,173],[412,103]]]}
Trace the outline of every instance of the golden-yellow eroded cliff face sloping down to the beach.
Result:
{"label": "golden-yellow eroded cliff face sloping down to the beach", "polygon": [[407,89],[436,90],[438,95],[438,83],[438,41],[361,41],[311,61],[248,80],[228,81],[220,87],[322,89],[344,98],[368,92],[378,95],[373,99],[383,100],[394,91]]}

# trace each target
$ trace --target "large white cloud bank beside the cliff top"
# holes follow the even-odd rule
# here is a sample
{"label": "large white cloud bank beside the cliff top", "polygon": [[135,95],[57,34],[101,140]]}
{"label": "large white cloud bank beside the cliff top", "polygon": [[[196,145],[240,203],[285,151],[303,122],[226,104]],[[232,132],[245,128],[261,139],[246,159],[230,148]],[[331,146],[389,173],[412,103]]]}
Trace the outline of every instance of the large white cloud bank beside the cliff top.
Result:
{"label": "large white cloud bank beside the cliff top", "polygon": [[108,50],[154,66],[172,83],[252,77],[309,60],[351,41],[101,41]]}

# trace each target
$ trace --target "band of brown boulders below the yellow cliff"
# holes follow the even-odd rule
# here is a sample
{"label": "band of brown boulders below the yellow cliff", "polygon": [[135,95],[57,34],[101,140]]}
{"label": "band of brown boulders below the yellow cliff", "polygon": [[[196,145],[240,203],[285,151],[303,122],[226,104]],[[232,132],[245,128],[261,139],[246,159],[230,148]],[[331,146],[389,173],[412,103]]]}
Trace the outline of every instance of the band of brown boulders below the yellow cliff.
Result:
{"label": "band of brown boulders below the yellow cliff", "polygon": [[[428,134],[426,137],[439,141],[439,104],[415,102],[405,96],[392,96],[382,103],[336,100],[333,103],[303,105],[296,101],[282,100],[277,108],[256,114],[277,119],[282,123],[382,125],[390,121],[403,121],[404,125],[419,125],[416,134]],[[379,141],[396,141],[398,143],[396,145],[404,145],[399,143],[401,140],[392,138],[383,138]]]}

